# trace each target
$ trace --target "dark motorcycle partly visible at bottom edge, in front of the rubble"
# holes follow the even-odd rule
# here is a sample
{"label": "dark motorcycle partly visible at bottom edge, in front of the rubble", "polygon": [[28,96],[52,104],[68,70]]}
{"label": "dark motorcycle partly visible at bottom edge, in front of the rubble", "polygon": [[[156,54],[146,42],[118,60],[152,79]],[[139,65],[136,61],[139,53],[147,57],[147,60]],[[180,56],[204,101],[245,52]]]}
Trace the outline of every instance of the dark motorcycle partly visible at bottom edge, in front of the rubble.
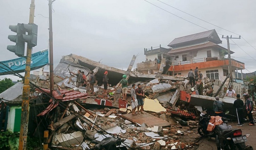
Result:
{"label": "dark motorcycle partly visible at bottom edge, in front of the rubble", "polygon": [[[125,139],[121,139],[119,137],[107,137],[104,138],[101,142],[97,140],[91,141],[91,143],[94,143],[94,148],[91,148],[89,150],[127,150],[125,146],[120,146],[122,142],[124,142]],[[119,147],[117,147],[119,146]]]}

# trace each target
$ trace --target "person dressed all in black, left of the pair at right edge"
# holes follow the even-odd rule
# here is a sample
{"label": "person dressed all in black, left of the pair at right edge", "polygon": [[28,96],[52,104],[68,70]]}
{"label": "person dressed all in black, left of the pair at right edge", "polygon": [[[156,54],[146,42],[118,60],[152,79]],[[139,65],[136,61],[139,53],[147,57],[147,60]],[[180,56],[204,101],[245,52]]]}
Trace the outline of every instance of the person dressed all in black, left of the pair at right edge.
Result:
{"label": "person dressed all in black, left of the pair at right edge", "polygon": [[237,99],[234,101],[233,104],[234,108],[236,108],[237,111],[237,120],[238,124],[237,126],[243,126],[243,119],[244,119],[244,113],[243,113],[243,106],[244,102],[240,99],[240,94],[237,94]]}

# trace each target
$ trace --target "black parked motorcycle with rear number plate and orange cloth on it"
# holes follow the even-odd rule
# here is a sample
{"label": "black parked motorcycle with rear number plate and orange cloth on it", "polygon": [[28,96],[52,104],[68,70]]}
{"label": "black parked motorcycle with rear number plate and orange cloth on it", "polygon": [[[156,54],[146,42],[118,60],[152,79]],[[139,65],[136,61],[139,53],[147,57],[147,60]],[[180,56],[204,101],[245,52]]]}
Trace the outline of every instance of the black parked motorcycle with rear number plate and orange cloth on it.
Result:
{"label": "black parked motorcycle with rear number plate and orange cloth on it", "polygon": [[246,137],[250,134],[242,136],[242,130],[232,129],[232,126],[227,126],[227,119],[223,118],[224,121],[220,125],[216,125],[212,132],[207,131],[207,126],[210,121],[210,116],[206,115],[206,112],[200,114],[200,120],[198,127],[198,133],[202,137],[214,137],[216,140],[216,146],[218,150],[253,150],[252,146],[245,145],[248,141]]}

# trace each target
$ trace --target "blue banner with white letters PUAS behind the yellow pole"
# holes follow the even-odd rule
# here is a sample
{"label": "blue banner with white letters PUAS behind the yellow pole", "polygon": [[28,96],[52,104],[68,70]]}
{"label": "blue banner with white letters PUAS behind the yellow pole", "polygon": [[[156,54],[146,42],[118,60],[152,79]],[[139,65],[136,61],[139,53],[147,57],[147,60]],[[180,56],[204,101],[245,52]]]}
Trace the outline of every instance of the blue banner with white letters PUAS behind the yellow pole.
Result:
{"label": "blue banner with white letters PUAS behind the yellow pole", "polygon": [[[36,70],[48,64],[48,49],[31,54],[30,70]],[[0,76],[5,74],[14,74],[25,72],[26,58],[0,61]]]}

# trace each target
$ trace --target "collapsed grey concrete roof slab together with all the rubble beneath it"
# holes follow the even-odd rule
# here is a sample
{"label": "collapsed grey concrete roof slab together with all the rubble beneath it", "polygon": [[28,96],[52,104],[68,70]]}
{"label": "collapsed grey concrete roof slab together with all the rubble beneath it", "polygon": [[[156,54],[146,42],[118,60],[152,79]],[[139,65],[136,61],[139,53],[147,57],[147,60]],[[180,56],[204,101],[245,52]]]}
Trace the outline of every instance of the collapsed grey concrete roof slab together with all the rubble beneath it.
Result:
{"label": "collapsed grey concrete roof slab together with all the rubble beneath it", "polygon": [[[132,62],[133,60],[135,59],[133,58]],[[78,144],[77,149],[85,150],[94,146],[88,144],[91,140],[101,141],[117,135],[125,139],[124,146],[139,149],[184,149],[193,143],[190,140],[181,140],[181,137],[193,134],[196,138],[196,133],[183,131],[197,126],[197,112],[213,108],[215,98],[204,95],[216,93],[221,82],[215,80],[213,83],[204,79],[195,87],[191,87],[185,77],[146,74],[148,70],[143,70],[145,73],[132,72],[132,62],[130,69],[124,71],[74,54],[63,56],[54,70],[54,89],[58,89],[55,91],[62,99],[53,100],[47,99],[45,95],[41,96],[41,103],[50,104],[49,107],[46,106],[46,110],[49,110],[46,122],[51,129],[49,139],[52,139],[52,145],[75,148]],[[90,91],[88,85],[75,87],[76,77],[71,76],[70,71],[77,72],[79,69],[85,74],[95,70],[94,92]],[[109,77],[107,94],[104,94],[102,86],[105,71],[108,71]],[[123,74],[129,77],[126,100],[119,86]],[[37,86],[49,89],[48,77],[34,75],[30,79]],[[130,91],[133,83],[141,84],[145,94],[143,114],[139,114],[137,110],[135,115],[131,114]],[[17,89],[22,85],[19,83],[13,88]],[[0,97],[9,95],[4,98],[10,100],[10,93],[15,89],[7,91],[7,94],[1,93]],[[18,95],[14,92],[16,98],[21,95],[21,91],[18,90]],[[233,107],[234,98],[224,97],[220,98],[220,101],[224,102],[224,109]],[[232,114],[232,110],[229,110]],[[38,125],[38,128],[40,126]]]}

